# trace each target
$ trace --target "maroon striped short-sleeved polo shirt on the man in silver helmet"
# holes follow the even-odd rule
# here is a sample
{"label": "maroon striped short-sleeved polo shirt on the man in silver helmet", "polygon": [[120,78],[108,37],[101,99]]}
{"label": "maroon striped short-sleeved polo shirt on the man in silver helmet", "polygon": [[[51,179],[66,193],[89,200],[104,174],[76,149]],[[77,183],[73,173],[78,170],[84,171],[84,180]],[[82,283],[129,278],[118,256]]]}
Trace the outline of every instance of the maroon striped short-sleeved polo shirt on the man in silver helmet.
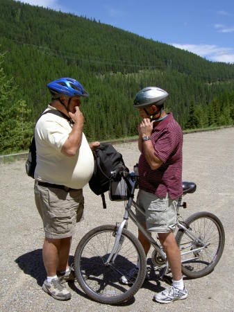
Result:
{"label": "maroon striped short-sleeved polo shirt on the man in silver helmet", "polygon": [[151,141],[154,154],[162,165],[152,170],[144,157],[144,148],[139,159],[139,187],[156,196],[170,198],[181,196],[182,190],[182,146],[183,132],[172,113],[153,127]]}

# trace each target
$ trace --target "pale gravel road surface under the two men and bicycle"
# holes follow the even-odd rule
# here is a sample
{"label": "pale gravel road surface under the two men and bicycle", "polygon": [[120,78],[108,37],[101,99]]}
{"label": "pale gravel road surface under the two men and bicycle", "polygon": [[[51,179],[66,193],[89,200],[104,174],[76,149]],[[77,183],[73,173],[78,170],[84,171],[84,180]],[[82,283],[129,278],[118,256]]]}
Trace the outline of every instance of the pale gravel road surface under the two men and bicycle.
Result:
{"label": "pale gravel road surface under the two men and bicycle", "polygon": [[[42,291],[45,270],[42,264],[44,232],[37,214],[33,180],[26,176],[24,160],[0,164],[0,310],[1,311],[234,311],[234,128],[197,132],[184,136],[183,180],[196,182],[197,191],[185,196],[183,217],[196,211],[216,214],[224,225],[226,245],[222,259],[210,275],[186,279],[187,300],[162,305],[153,302],[153,293],[167,286],[153,276],[131,302],[108,306],[93,302],[78,284],[69,284],[72,300],[59,302]],[[139,157],[137,142],[117,144],[128,168],[133,170]],[[93,227],[115,224],[124,214],[122,202],[106,202],[89,187],[84,189],[85,220],[79,223],[72,242],[70,260],[81,237]],[[135,225],[128,224],[134,234]],[[149,255],[150,257],[150,255]]]}

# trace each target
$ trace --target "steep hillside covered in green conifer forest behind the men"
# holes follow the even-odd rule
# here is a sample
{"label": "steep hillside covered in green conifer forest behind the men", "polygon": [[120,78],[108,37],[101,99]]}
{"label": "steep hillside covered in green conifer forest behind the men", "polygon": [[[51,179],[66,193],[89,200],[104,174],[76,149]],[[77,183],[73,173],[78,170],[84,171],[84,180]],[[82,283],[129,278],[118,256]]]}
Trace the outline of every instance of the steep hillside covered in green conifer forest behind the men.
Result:
{"label": "steep hillside covered in green conifer forest behind the men", "polygon": [[183,129],[234,122],[233,64],[12,0],[0,0],[0,31],[0,153],[27,148],[51,99],[46,85],[60,77],[90,93],[81,108],[89,140],[137,135],[133,98],[147,85],[169,92]]}

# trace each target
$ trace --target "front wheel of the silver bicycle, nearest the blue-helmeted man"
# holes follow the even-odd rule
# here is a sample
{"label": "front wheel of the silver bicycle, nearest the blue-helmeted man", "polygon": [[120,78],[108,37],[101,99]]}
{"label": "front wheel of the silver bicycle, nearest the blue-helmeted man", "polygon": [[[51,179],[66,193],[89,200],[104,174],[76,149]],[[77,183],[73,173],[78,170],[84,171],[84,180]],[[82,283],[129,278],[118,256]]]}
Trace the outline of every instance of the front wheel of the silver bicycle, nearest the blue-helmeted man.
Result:
{"label": "front wheel of the silver bicycle, nearest the blue-helmeted man", "polygon": [[[115,242],[115,234],[116,227],[114,225],[102,225],[92,229],[78,243],[74,255],[74,270],[78,284],[92,300],[104,304],[119,304],[130,300],[142,286],[147,270],[144,249],[136,237],[127,229],[122,231],[123,243],[117,258],[112,265],[105,266],[105,261]],[[106,246],[108,248],[103,248],[102,243],[108,243]],[[139,259],[140,262],[137,277],[130,286],[119,283],[119,278],[126,274],[126,270],[130,267],[133,268],[133,264],[136,265],[136,262],[132,263],[132,259],[124,258],[124,249],[128,251],[129,257],[131,256],[131,248],[126,249],[128,248],[127,243],[135,252],[133,260]],[[104,254],[97,252],[99,247]],[[135,259],[135,257],[137,258]],[[106,292],[104,288],[106,288]]]}

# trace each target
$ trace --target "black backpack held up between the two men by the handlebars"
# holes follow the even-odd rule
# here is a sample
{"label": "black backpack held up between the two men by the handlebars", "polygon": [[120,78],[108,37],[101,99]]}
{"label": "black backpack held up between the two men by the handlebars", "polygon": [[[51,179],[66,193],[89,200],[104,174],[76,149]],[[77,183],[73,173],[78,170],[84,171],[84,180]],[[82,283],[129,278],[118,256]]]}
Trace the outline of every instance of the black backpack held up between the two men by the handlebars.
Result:
{"label": "black backpack held up between the two men by the handlebars", "polygon": [[[90,189],[96,194],[101,195],[103,200],[103,208],[106,208],[104,193],[109,190],[112,171],[117,171],[119,168],[125,168],[122,154],[107,143],[101,143],[98,148],[95,148],[94,154],[94,173],[89,182]],[[118,179],[118,177],[115,177]],[[119,176],[119,180],[121,177]]]}

